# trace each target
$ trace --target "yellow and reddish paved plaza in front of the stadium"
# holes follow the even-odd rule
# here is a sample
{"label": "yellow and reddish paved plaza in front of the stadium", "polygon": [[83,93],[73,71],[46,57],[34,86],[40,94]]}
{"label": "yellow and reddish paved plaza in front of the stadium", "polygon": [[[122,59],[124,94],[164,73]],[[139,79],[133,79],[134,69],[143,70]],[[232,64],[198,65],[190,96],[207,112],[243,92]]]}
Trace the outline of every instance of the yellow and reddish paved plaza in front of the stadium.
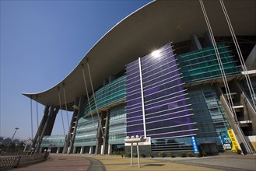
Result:
{"label": "yellow and reddish paved plaza in front of the stadium", "polygon": [[56,155],[45,162],[16,168],[16,171],[32,170],[88,170],[88,171],[165,171],[165,170],[256,170],[256,155],[215,155],[203,158],[142,158],[141,168],[138,167],[137,159],[133,159],[130,166],[129,158],[121,158],[119,155]]}

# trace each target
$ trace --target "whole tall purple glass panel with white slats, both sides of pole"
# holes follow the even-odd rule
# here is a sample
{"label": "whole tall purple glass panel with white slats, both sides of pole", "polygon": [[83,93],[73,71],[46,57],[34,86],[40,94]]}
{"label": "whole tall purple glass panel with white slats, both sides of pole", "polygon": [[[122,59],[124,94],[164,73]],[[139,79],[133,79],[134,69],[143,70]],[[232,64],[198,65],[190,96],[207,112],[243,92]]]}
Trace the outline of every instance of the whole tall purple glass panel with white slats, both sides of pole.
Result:
{"label": "whole tall purple glass panel with white slats, both sides of pole", "polygon": [[128,136],[144,135],[143,123],[146,124],[146,136],[152,139],[195,135],[195,123],[191,121],[193,113],[170,44],[129,64],[126,75]]}

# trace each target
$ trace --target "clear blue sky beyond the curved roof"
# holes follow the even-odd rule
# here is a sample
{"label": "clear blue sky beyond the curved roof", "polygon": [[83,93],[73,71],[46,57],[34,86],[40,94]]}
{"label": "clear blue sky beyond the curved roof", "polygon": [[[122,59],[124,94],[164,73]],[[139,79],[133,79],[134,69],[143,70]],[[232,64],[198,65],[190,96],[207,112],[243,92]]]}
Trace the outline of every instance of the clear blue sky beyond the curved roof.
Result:
{"label": "clear blue sky beyond the curved roof", "polygon": [[[1,0],[0,136],[31,138],[30,99],[65,78],[100,37],[150,1]],[[37,131],[33,101],[33,135]],[[44,106],[38,103],[39,124]],[[63,111],[65,131],[68,123]],[[72,113],[69,113],[69,119]],[[52,134],[63,134],[58,113]]]}

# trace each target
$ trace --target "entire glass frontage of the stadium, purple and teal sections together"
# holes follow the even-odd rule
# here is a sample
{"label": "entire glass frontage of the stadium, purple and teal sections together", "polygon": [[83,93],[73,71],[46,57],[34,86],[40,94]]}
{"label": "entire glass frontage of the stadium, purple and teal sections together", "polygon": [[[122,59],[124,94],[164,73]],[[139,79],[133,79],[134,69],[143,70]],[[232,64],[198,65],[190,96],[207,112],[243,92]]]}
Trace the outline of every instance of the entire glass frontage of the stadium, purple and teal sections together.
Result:
{"label": "entire glass frontage of the stadium, purple and teal sections together", "polygon": [[[218,49],[226,76],[239,75],[228,48],[219,44]],[[151,138],[152,152],[191,152],[191,136],[198,145],[210,142],[222,148],[219,131],[230,129],[230,125],[215,87],[186,85],[221,78],[213,47],[175,56],[167,44],[125,69],[124,76],[95,92],[96,103],[90,96],[90,106],[82,104],[75,147],[96,145],[97,106],[109,111],[107,142],[114,151],[124,149],[125,136],[137,134]]]}

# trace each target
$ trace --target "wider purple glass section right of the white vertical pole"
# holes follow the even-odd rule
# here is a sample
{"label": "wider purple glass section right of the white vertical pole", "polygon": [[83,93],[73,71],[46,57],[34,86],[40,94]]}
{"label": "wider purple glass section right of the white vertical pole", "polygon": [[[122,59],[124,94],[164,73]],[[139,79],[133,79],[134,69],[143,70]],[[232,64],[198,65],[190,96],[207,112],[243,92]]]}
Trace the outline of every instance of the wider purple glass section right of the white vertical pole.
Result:
{"label": "wider purple glass section right of the white vertical pole", "polygon": [[[191,118],[182,117],[190,114],[190,110],[186,106],[188,103],[185,99],[174,53],[170,45],[162,47],[158,51],[162,52],[157,60],[153,57],[142,60],[146,128],[153,129],[153,131],[147,131],[152,138],[166,138],[167,133],[191,129]],[[161,54],[164,55],[161,56]],[[180,124],[188,125],[170,127]]]}

